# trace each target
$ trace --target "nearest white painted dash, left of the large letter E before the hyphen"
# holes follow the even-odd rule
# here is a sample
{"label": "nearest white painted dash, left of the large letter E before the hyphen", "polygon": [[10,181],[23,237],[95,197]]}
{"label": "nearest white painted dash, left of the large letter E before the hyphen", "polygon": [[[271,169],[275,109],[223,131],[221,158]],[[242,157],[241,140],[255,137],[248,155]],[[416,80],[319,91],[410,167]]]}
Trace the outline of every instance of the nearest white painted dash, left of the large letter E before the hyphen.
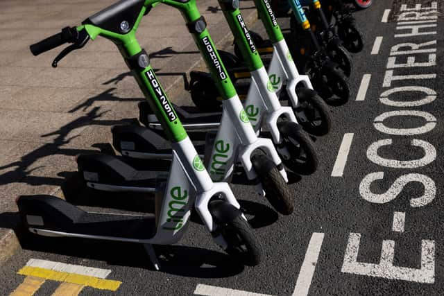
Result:
{"label": "nearest white painted dash, left of the large letter E before the hyphen", "polygon": [[311,279],[314,275],[316,263],[318,262],[319,253],[321,252],[321,245],[324,239],[324,234],[315,232],[311,235],[310,243],[305,253],[304,262],[300,268],[298,281],[294,288],[293,296],[306,296],[311,285]]}

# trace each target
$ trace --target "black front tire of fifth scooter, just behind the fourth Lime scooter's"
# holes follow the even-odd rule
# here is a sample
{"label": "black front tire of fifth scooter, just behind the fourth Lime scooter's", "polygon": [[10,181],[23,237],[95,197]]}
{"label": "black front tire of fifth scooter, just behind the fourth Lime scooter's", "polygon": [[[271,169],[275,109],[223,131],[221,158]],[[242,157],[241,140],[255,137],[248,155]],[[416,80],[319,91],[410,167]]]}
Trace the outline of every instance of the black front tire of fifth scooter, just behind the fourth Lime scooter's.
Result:
{"label": "black front tire of fifth scooter, just behind the fourth Lime scooter's", "polygon": [[350,84],[341,70],[325,66],[316,73],[314,85],[318,94],[329,105],[343,105],[350,99]]}

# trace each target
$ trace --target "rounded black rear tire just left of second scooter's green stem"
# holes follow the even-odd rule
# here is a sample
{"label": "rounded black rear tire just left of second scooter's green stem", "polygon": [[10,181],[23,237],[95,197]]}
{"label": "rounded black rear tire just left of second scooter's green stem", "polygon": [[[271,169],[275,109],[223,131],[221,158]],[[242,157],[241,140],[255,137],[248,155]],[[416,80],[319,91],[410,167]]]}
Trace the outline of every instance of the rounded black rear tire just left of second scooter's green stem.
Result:
{"label": "rounded black rear tire just left of second scooter's green stem", "polygon": [[[202,78],[203,76],[201,76]],[[211,78],[193,79],[189,82],[191,101],[203,112],[218,112],[222,109],[218,101],[219,92]]]}

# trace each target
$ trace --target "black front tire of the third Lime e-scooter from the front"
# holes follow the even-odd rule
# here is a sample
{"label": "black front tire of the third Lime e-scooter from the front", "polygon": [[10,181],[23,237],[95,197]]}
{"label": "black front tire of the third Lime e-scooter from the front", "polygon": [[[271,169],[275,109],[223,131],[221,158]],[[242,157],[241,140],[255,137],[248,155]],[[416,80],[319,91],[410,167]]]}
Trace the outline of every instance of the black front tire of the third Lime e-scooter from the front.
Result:
{"label": "black front tire of the third Lime e-scooter from the front", "polygon": [[282,121],[278,128],[290,154],[289,159],[283,161],[285,166],[294,173],[302,175],[314,173],[318,168],[319,160],[309,135],[302,130],[300,125],[293,122]]}

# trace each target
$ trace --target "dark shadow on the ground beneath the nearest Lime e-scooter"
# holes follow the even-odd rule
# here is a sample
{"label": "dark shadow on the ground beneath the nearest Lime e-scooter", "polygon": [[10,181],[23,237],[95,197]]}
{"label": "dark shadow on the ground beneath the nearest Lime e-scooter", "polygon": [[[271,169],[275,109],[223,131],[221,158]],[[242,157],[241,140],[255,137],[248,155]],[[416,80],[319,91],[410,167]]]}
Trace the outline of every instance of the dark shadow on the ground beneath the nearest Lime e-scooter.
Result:
{"label": "dark shadow on the ground beneath the nearest Lime e-scooter", "polygon": [[[14,227],[23,250],[105,261],[109,265],[154,271],[142,244],[37,236],[27,232],[22,226],[14,225],[12,221],[18,219],[18,213],[1,213],[0,227]],[[160,271],[171,275],[219,278],[237,275],[244,270],[242,265],[222,252],[182,245],[156,245],[154,247],[160,259]]]}

